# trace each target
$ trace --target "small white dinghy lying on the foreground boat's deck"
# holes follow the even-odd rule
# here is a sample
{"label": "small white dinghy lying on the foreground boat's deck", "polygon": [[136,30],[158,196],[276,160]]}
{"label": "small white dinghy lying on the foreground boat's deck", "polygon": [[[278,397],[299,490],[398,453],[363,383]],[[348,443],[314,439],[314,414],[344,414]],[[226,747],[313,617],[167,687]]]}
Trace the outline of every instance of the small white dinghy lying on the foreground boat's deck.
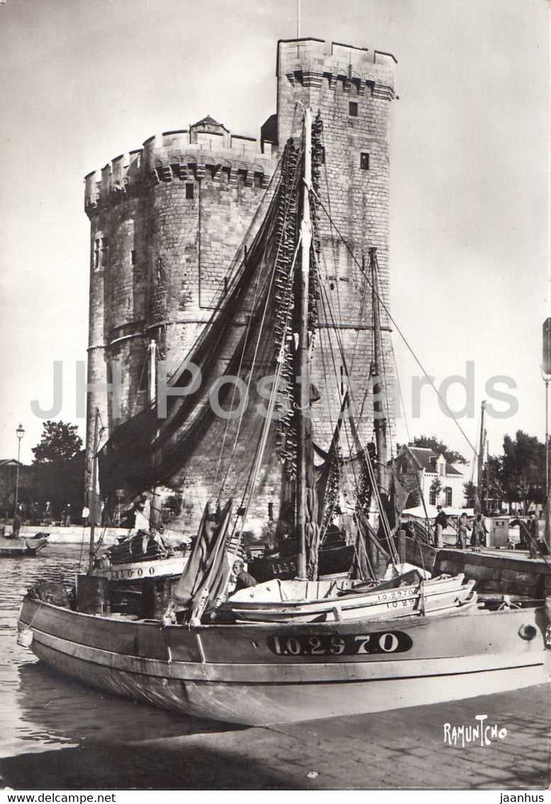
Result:
{"label": "small white dinghy lying on the foreground boat's deck", "polygon": [[280,580],[240,589],[221,608],[238,621],[324,622],[418,617],[475,605],[474,580],[439,576],[392,589],[354,588],[353,581]]}

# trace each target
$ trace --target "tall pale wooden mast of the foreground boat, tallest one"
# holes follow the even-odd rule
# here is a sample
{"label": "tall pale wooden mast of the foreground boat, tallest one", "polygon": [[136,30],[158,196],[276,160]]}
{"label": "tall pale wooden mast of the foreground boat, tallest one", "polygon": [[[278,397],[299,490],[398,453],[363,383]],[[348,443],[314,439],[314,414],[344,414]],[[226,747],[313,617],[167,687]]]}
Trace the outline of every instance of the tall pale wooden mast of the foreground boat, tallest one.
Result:
{"label": "tall pale wooden mast of the foreground boat, tallest one", "polygon": [[296,406],[298,433],[296,449],[296,529],[299,537],[297,572],[306,577],[306,520],[308,495],[308,454],[306,449],[307,417],[310,415],[310,353],[308,344],[308,297],[310,280],[310,185],[312,181],[312,111],[304,109],[304,176],[302,220],[300,224],[300,277],[298,277],[299,332],[296,347]]}

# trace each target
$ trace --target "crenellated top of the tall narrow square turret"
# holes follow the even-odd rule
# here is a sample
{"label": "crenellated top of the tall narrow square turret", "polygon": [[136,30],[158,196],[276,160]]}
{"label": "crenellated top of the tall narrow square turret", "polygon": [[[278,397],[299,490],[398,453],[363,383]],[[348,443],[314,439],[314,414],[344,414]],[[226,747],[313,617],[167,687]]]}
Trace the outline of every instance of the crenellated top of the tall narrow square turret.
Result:
{"label": "crenellated top of the tall narrow square turret", "polygon": [[385,51],[323,39],[280,39],[277,77],[286,76],[291,84],[304,87],[320,87],[325,80],[332,89],[355,90],[358,95],[367,89],[375,97],[391,100],[395,64],[394,55]]}

